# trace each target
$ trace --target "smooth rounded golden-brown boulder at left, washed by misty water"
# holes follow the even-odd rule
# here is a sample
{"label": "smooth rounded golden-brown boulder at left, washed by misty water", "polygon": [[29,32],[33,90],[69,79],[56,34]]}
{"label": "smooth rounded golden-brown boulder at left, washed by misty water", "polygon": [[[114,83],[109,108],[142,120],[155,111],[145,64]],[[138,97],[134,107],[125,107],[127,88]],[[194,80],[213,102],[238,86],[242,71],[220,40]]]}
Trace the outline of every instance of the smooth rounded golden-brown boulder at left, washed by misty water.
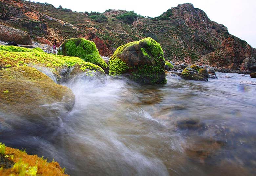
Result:
{"label": "smooth rounded golden-brown boulder at left, washed by misty water", "polygon": [[0,99],[3,113],[47,122],[70,111],[75,103],[71,89],[28,66],[0,70]]}

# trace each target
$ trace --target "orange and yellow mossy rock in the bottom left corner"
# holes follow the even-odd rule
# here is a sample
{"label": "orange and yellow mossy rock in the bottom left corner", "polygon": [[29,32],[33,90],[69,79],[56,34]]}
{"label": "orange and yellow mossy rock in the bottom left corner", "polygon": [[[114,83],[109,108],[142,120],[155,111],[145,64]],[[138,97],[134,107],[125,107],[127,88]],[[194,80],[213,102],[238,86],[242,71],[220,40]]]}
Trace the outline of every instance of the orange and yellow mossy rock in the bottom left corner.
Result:
{"label": "orange and yellow mossy rock in the bottom left corner", "polygon": [[49,176],[66,175],[58,162],[47,162],[37,155],[28,155],[25,151],[6,147],[0,143],[1,176]]}

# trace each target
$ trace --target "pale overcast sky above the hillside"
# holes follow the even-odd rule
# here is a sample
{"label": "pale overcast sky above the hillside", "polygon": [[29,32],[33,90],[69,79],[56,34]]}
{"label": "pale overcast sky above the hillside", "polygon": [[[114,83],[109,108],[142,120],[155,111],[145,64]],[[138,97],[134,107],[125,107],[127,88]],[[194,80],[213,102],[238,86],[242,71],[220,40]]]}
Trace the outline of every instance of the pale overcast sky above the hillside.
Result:
{"label": "pale overcast sky above the hillside", "polygon": [[[31,0],[32,1],[32,0]],[[208,17],[228,28],[230,34],[247,41],[256,48],[256,0],[35,0],[47,2],[72,11],[104,12],[107,9],[132,11],[142,16],[155,17],[178,4],[192,3],[203,10]]]}

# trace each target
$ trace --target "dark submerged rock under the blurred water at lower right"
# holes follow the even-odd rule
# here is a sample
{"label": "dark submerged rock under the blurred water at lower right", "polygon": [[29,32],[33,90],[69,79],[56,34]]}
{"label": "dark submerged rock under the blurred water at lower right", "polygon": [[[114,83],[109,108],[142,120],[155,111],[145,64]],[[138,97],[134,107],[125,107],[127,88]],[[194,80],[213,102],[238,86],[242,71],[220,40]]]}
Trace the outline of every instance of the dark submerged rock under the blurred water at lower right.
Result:
{"label": "dark submerged rock under the blurred water at lower right", "polygon": [[180,130],[198,130],[203,129],[205,127],[205,124],[200,123],[199,120],[196,119],[186,119],[177,121],[176,127]]}

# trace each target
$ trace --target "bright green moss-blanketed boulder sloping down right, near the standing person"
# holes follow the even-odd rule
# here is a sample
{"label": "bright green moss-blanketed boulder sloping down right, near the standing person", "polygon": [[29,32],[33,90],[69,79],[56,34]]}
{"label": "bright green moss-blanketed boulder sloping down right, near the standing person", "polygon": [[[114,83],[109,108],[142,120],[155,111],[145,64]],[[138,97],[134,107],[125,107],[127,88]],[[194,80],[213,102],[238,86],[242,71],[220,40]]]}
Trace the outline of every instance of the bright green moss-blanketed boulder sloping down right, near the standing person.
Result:
{"label": "bright green moss-blanketed boulder sloping down right, near the standing person", "polygon": [[58,55],[79,57],[84,61],[98,65],[103,69],[108,67],[100,57],[95,43],[84,38],[66,40],[60,46]]}

